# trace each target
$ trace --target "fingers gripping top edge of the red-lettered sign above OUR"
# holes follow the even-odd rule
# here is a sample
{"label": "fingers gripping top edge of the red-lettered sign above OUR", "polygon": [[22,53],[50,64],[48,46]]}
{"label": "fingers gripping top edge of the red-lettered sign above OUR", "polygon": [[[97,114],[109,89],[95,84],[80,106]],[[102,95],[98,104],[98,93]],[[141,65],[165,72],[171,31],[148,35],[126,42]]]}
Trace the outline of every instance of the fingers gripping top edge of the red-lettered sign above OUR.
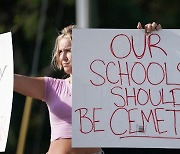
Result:
{"label": "fingers gripping top edge of the red-lettered sign above OUR", "polygon": [[[137,28],[138,29],[143,29],[143,26],[140,22],[138,22],[138,25],[137,25]],[[161,25],[160,24],[157,24],[156,22],[153,22],[153,23],[148,23],[144,26],[144,29],[145,29],[145,33],[146,34],[149,34],[155,30],[159,30],[159,29],[162,29]]]}

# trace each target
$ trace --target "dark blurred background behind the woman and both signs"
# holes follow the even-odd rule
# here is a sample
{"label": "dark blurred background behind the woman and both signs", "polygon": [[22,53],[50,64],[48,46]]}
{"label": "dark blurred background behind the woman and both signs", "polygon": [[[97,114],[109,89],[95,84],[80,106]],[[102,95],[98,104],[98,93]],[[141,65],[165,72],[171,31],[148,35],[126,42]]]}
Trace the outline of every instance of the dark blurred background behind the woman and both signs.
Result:
{"label": "dark blurred background behind the woman and both signs", "polygon": [[[179,0],[0,0],[0,33],[12,32],[14,72],[24,75],[64,77],[50,67],[58,32],[69,24],[82,28],[136,29],[156,21],[164,29],[180,27]],[[45,154],[50,125],[44,102],[14,93],[6,154]],[[27,134],[19,143],[24,110],[29,112]],[[28,119],[29,117],[29,119]],[[23,144],[25,146],[22,147]],[[17,152],[18,146],[23,152]],[[175,154],[172,149],[104,148],[105,153]]]}

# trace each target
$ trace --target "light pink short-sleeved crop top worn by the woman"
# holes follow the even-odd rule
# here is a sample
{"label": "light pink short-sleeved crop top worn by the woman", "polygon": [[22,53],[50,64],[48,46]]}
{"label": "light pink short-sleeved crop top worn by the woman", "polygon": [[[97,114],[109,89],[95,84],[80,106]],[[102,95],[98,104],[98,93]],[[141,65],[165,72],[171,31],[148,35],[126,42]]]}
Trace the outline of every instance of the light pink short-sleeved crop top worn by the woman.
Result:
{"label": "light pink short-sleeved crop top worn by the woman", "polygon": [[51,124],[51,141],[72,138],[72,87],[67,79],[45,77],[45,98]]}

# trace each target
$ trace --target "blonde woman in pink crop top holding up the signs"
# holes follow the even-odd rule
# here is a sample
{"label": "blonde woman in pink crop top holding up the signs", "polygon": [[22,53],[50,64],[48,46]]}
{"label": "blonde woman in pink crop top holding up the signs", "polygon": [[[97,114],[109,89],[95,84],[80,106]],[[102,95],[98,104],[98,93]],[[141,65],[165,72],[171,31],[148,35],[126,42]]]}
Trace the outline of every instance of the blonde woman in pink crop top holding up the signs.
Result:
{"label": "blonde woman in pink crop top holding up the signs", "polygon": [[[65,27],[57,37],[52,64],[69,74],[67,79],[51,77],[27,77],[15,74],[14,91],[46,102],[51,124],[51,143],[48,154],[100,154],[101,148],[72,148],[72,29]],[[137,25],[142,29],[141,23]],[[155,22],[145,25],[150,33],[161,28]]]}

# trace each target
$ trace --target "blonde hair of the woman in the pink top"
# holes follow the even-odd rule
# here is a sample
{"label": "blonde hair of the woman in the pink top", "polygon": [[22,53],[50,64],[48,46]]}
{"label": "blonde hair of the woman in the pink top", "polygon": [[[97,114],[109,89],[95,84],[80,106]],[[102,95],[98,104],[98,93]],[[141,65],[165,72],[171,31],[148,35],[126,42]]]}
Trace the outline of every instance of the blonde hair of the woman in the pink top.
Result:
{"label": "blonde hair of the woman in the pink top", "polygon": [[62,29],[61,33],[56,38],[54,49],[52,52],[52,60],[51,60],[51,65],[55,70],[62,69],[62,66],[58,64],[57,58],[56,58],[56,54],[58,51],[58,43],[64,37],[69,37],[70,40],[72,41],[72,29],[73,28],[75,28],[75,25],[69,25],[69,26],[65,27],[64,29]]}

